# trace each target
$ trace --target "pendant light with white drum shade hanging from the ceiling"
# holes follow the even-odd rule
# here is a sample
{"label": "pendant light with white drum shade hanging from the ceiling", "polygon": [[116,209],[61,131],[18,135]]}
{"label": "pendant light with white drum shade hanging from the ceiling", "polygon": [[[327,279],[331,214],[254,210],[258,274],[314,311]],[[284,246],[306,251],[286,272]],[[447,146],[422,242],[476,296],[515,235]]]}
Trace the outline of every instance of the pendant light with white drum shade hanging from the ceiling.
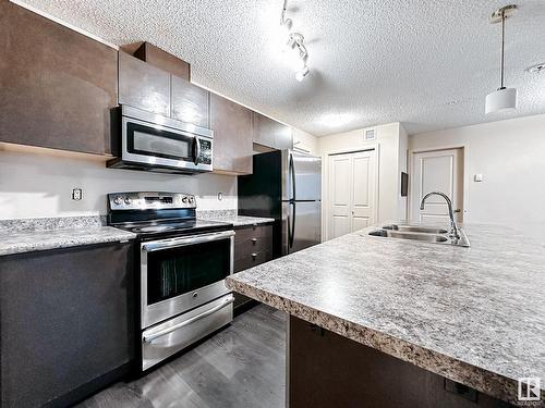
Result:
{"label": "pendant light with white drum shade hanging from the ceiling", "polygon": [[517,88],[506,88],[504,86],[506,18],[513,15],[516,10],[517,5],[514,4],[505,5],[495,11],[491,16],[492,24],[501,23],[501,65],[499,88],[486,96],[486,114],[517,108]]}

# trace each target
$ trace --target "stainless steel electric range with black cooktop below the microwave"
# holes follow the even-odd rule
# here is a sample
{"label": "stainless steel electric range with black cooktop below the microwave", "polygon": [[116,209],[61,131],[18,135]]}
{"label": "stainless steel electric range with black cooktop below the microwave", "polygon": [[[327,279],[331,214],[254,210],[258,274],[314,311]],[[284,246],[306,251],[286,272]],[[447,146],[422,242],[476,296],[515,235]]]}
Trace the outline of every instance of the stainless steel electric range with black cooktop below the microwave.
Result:
{"label": "stainless steel electric range with black cooktop below the microwave", "polygon": [[232,320],[232,225],[196,219],[181,193],[108,195],[108,224],[137,234],[142,371]]}

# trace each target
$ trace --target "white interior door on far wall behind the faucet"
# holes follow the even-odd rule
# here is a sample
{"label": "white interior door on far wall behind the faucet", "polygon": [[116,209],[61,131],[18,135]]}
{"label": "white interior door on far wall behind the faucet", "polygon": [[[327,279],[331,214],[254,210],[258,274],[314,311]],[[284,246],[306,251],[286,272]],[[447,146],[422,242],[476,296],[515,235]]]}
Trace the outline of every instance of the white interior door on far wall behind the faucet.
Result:
{"label": "white interior door on far wall behind the faucet", "polygon": [[411,220],[422,223],[449,222],[444,198],[432,196],[420,209],[422,198],[431,191],[445,193],[456,210],[457,222],[462,221],[463,150],[448,149],[417,152],[411,163]]}

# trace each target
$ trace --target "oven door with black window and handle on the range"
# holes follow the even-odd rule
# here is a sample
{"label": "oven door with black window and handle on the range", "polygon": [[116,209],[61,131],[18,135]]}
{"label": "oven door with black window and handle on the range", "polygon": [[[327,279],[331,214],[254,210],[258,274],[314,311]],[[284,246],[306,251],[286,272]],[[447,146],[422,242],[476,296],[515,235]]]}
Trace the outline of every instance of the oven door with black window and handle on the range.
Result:
{"label": "oven door with black window and handle on the range", "polygon": [[194,309],[230,290],[234,231],[141,245],[141,329]]}

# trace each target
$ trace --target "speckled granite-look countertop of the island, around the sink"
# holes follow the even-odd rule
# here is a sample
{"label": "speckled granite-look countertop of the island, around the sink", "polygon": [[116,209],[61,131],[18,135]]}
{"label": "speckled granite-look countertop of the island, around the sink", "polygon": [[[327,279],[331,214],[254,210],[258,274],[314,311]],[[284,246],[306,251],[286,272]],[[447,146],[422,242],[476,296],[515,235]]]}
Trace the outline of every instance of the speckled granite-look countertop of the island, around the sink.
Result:
{"label": "speckled granite-look countertop of the island, around the sink", "polygon": [[461,248],[373,237],[371,230],[237,273],[227,284],[512,404],[520,404],[519,378],[543,383],[543,239],[464,225],[472,247]]}

